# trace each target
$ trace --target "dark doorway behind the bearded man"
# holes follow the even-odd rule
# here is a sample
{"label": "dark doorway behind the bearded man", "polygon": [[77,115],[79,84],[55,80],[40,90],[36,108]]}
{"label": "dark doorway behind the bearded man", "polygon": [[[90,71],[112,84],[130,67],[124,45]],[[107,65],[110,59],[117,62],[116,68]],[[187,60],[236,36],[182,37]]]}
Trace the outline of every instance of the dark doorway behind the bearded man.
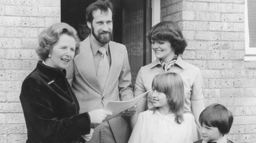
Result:
{"label": "dark doorway behind the bearded man", "polygon": [[[77,29],[85,20],[85,9],[96,0],[60,0],[61,21]],[[151,46],[146,33],[152,26],[151,0],[112,0],[115,7],[113,39],[124,44],[128,51],[132,83],[139,69],[151,63]]]}

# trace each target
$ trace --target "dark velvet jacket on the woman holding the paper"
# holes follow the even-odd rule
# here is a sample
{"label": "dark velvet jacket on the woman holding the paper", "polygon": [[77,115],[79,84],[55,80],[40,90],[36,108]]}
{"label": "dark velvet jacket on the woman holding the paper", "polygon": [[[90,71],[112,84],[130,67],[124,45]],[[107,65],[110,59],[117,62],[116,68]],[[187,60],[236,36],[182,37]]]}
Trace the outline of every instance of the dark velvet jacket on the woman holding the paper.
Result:
{"label": "dark velvet jacket on the woman holding the paper", "polygon": [[[65,78],[65,69],[51,68],[38,61],[36,69],[22,83],[20,101],[29,142],[85,142],[89,114],[79,113],[78,101]],[[73,143],[73,142],[72,142]]]}

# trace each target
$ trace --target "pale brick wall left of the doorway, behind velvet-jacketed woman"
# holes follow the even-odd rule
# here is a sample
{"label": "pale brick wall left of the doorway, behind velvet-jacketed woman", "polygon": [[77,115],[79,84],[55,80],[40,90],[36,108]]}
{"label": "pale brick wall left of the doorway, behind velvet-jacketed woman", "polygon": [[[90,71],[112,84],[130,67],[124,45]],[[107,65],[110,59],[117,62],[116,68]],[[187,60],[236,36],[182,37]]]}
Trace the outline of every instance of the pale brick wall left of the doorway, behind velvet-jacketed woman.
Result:
{"label": "pale brick wall left of the doorway, behind velvet-jacketed woman", "polygon": [[36,66],[39,32],[59,21],[59,0],[0,1],[1,143],[27,140],[20,88],[23,79]]}

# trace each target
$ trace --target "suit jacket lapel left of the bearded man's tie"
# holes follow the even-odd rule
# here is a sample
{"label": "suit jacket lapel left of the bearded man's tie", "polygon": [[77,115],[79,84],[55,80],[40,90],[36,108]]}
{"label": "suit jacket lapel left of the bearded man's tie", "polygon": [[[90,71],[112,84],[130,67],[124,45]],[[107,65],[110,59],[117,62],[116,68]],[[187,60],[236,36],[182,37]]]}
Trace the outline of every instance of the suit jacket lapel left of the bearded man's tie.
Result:
{"label": "suit jacket lapel left of the bearded man's tie", "polygon": [[89,36],[85,41],[81,42],[80,53],[75,56],[74,61],[83,80],[95,91],[102,93],[99,82],[97,81]]}

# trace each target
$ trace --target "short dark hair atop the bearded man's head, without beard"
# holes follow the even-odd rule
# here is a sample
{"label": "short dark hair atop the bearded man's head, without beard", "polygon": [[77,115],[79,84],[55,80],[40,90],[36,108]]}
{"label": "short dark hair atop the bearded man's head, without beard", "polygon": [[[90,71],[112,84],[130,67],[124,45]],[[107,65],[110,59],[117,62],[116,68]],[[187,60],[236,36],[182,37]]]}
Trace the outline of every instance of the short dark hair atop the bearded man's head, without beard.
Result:
{"label": "short dark hair atop the bearded man's head, without beard", "polygon": [[101,10],[101,12],[108,12],[110,9],[112,12],[112,20],[114,20],[114,6],[109,0],[97,0],[90,4],[86,8],[86,21],[92,23],[93,22],[93,12],[96,10]]}

